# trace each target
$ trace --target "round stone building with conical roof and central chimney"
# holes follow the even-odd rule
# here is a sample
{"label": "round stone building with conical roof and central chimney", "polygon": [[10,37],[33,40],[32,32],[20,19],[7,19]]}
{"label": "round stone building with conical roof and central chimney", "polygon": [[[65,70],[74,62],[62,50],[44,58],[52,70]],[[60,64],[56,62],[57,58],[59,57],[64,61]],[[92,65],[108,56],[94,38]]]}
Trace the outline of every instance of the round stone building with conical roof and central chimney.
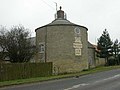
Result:
{"label": "round stone building with conical roof and central chimney", "polygon": [[[55,20],[41,26],[36,32],[36,62],[53,62],[55,71],[78,72],[87,69],[89,56],[88,29],[67,20],[63,10],[57,11]],[[90,60],[94,61],[94,52]],[[94,59],[94,60],[93,60]]]}

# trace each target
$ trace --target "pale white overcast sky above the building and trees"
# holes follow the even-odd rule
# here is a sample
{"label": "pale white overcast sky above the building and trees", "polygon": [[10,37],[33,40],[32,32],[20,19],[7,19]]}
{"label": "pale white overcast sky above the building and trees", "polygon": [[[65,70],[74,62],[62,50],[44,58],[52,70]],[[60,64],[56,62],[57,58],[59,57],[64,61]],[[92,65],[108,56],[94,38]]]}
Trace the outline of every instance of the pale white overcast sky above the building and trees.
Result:
{"label": "pale white overcast sky above the building and trees", "polygon": [[67,19],[88,28],[88,40],[96,43],[106,28],[112,40],[120,40],[120,0],[0,0],[0,25],[22,24],[32,36],[35,29],[54,20],[56,5]]}

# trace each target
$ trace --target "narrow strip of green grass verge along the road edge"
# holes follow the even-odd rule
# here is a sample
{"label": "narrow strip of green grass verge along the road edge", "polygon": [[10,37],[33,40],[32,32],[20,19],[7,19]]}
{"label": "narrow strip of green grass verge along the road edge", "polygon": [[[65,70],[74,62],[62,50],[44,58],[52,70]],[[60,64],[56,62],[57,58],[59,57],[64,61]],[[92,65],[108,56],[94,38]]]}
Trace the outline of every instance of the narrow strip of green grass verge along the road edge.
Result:
{"label": "narrow strip of green grass verge along the road edge", "polygon": [[107,66],[107,67],[100,66],[100,67],[96,67],[96,68],[93,68],[90,70],[83,70],[83,71],[77,72],[77,73],[55,75],[55,76],[49,76],[49,77],[37,77],[37,78],[3,81],[3,82],[0,82],[0,87],[9,86],[9,85],[17,85],[17,84],[43,82],[43,81],[55,80],[55,79],[61,79],[61,78],[70,78],[70,77],[74,77],[74,76],[82,76],[82,75],[87,75],[87,74],[92,74],[92,73],[102,72],[102,71],[107,71],[107,70],[113,70],[113,69],[120,69],[120,66]]}

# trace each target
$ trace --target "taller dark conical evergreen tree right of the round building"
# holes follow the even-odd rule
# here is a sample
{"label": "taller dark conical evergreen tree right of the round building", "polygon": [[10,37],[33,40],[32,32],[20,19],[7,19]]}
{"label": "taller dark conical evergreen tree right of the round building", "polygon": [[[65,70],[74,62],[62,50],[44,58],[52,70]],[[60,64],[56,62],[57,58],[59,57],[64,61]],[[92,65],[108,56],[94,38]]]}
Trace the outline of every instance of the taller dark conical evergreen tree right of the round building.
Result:
{"label": "taller dark conical evergreen tree right of the round building", "polygon": [[97,42],[97,56],[100,58],[105,58],[106,65],[108,65],[108,57],[112,54],[112,41],[110,39],[108,31],[105,29],[102,36],[98,39]]}

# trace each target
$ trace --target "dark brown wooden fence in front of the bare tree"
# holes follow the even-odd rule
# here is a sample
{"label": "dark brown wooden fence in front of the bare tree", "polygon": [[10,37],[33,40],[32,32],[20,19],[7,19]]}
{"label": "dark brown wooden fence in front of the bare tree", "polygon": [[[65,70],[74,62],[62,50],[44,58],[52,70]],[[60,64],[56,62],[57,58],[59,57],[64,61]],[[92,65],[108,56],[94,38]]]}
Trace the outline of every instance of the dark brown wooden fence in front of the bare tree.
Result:
{"label": "dark brown wooden fence in front of the bare tree", "polygon": [[52,62],[0,64],[0,81],[50,75],[52,75]]}

